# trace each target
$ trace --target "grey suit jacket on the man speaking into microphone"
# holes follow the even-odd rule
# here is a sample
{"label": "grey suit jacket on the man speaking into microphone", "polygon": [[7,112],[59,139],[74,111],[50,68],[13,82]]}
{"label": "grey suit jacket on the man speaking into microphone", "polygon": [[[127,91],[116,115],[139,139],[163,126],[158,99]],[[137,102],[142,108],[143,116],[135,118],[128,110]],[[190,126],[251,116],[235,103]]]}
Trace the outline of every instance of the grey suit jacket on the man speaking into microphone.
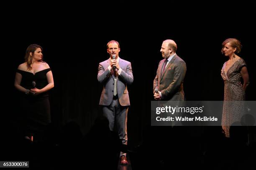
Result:
{"label": "grey suit jacket on the man speaking into microphone", "polygon": [[[108,70],[110,65],[110,59],[100,62],[97,79],[103,84],[103,90],[100,96],[100,105],[108,106],[111,104],[114,95],[114,78],[112,72]],[[119,66],[122,69],[120,75],[118,75],[117,92],[120,105],[129,106],[130,100],[127,90],[127,84],[131,85],[133,82],[133,72],[131,62],[119,58]]]}

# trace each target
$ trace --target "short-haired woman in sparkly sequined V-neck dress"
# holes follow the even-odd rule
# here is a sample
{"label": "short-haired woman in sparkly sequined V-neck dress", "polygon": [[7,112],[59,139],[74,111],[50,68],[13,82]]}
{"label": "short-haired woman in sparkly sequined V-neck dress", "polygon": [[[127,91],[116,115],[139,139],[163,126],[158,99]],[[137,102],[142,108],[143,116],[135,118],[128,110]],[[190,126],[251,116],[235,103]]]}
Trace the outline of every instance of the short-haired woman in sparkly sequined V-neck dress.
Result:
{"label": "short-haired woman in sparkly sequined V-neck dress", "polygon": [[[241,51],[241,42],[235,38],[228,38],[222,43],[221,52],[228,57],[223,64],[221,76],[224,80],[224,102],[222,114],[222,128],[227,138],[230,137],[230,125],[240,122],[244,112],[243,101],[245,90],[249,84],[249,75],[246,62],[238,56]],[[243,79],[243,84],[241,83]],[[233,101],[233,102],[230,102]]]}

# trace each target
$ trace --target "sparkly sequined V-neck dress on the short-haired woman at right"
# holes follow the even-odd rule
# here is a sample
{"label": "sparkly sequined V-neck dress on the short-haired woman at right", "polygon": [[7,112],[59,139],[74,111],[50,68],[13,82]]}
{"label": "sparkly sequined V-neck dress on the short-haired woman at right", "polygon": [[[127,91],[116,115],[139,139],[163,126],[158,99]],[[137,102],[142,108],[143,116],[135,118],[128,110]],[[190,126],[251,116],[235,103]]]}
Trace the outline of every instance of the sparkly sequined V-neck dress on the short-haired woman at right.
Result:
{"label": "sparkly sequined V-neck dress on the short-haired woman at right", "polygon": [[244,113],[243,102],[229,102],[229,101],[243,101],[245,100],[245,92],[241,84],[241,69],[246,66],[246,62],[240,58],[225,72],[225,62],[221,70],[221,76],[224,80],[224,102],[222,113],[222,128],[226,137],[230,137],[230,125],[234,122],[240,122]]}

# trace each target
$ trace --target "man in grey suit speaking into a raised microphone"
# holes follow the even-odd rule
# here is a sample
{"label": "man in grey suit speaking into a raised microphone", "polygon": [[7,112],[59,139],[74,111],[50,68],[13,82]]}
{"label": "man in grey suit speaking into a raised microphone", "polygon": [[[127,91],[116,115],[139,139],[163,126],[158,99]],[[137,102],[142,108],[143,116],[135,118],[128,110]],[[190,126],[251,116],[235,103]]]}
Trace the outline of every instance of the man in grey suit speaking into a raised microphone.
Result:
{"label": "man in grey suit speaking into a raised microphone", "polygon": [[[110,130],[114,130],[116,124],[119,138],[127,145],[127,112],[130,100],[127,85],[133,82],[131,62],[119,57],[120,45],[111,40],[107,44],[108,60],[100,62],[97,79],[103,84],[100,96],[103,115],[109,121]],[[120,164],[127,165],[126,153],[120,153]]]}

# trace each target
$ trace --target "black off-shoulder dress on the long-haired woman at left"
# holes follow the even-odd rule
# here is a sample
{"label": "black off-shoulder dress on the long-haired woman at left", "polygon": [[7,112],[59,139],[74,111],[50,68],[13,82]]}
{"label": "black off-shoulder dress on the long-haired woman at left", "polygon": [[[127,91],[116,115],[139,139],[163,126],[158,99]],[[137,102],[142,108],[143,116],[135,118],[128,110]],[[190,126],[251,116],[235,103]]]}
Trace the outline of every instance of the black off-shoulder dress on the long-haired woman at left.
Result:
{"label": "black off-shoulder dress on the long-haired woman at left", "polygon": [[[36,72],[17,70],[22,75],[20,85],[26,89],[31,89],[32,82],[36,82],[36,88],[42,89],[47,84],[46,73],[51,69],[44,69]],[[20,120],[22,133],[26,136],[42,136],[46,125],[51,122],[49,93],[44,92],[39,95],[26,95],[20,93]]]}

